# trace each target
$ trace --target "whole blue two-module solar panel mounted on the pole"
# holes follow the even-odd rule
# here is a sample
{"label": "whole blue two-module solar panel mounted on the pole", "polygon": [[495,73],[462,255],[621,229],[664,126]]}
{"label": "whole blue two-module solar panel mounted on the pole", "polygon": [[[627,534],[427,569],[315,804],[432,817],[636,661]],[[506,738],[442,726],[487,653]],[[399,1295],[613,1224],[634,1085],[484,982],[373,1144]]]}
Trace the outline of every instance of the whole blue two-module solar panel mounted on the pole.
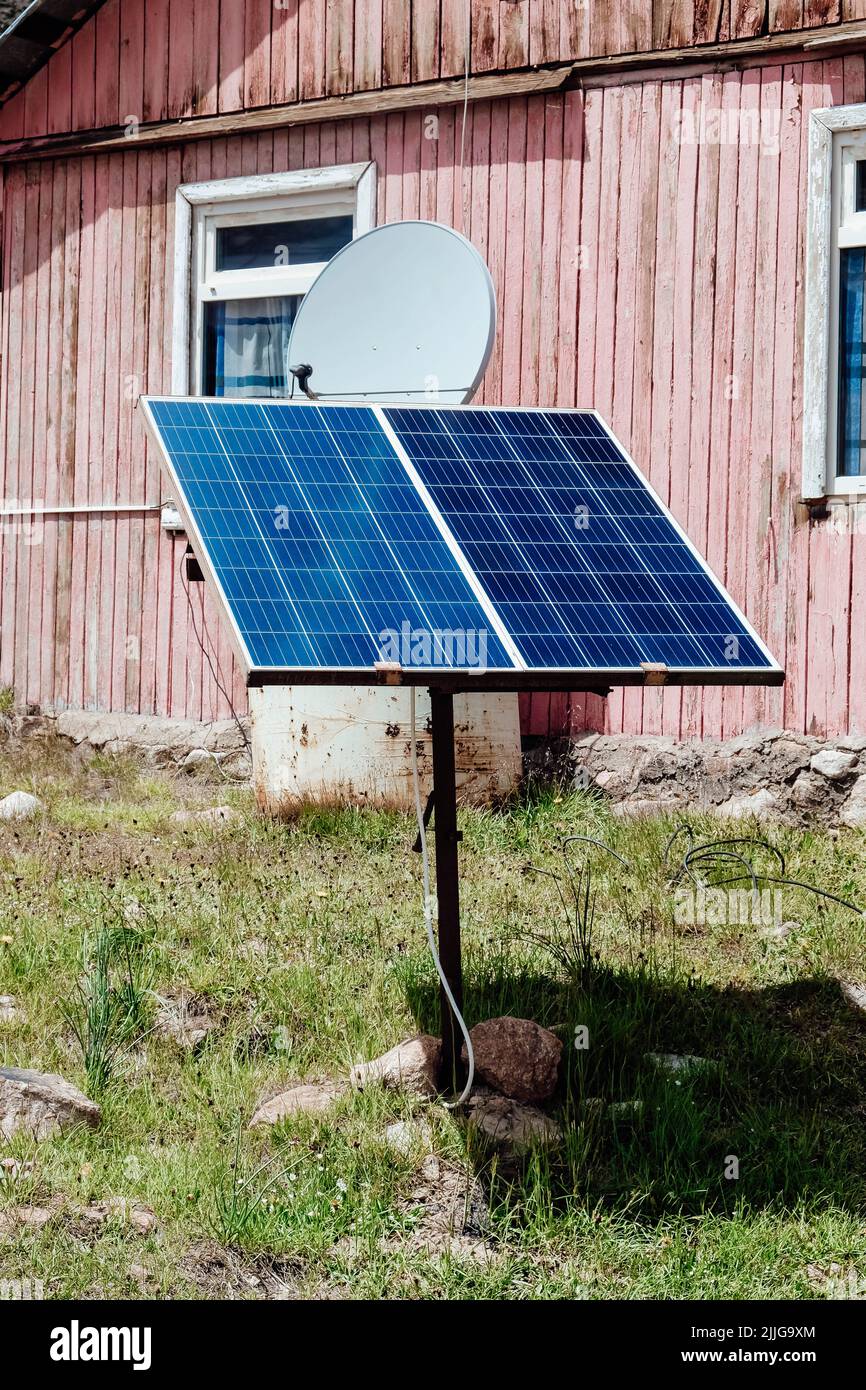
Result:
{"label": "whole blue two-module solar panel mounted on the pole", "polygon": [[592,411],[143,406],[250,684],[783,678]]}

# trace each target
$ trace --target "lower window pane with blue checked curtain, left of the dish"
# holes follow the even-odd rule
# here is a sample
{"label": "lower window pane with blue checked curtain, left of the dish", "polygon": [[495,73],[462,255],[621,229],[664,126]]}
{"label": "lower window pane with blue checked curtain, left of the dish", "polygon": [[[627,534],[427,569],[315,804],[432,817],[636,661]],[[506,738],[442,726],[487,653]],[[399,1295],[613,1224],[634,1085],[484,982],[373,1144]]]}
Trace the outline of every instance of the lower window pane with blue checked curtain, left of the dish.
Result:
{"label": "lower window pane with blue checked curtain, left of the dish", "polygon": [[299,295],[204,306],[204,395],[288,396]]}

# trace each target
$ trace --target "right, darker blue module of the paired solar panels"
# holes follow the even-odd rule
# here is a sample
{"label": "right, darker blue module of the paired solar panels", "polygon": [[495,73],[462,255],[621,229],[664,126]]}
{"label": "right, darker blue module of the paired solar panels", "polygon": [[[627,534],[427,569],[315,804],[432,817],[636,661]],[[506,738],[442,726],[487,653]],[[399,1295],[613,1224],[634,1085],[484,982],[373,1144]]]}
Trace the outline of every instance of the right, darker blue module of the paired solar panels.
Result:
{"label": "right, darker blue module of the paired solar panels", "polygon": [[382,413],[530,669],[781,678],[594,411]]}

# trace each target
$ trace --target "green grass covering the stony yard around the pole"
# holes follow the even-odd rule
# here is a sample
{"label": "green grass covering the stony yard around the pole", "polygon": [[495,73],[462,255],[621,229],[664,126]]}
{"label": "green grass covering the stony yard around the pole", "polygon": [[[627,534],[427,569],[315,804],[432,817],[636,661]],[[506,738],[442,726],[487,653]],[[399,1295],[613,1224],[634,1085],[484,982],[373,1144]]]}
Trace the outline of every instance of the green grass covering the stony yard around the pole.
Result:
{"label": "green grass covering the stony yard around the pole", "polygon": [[[60,1298],[823,1298],[838,1266],[866,1289],[866,1020],[838,988],[866,979],[866,919],[784,888],[784,938],[683,923],[676,820],[556,788],[464,810],[468,1022],[562,1037],[562,1147],[505,1163],[459,1116],[382,1091],[249,1130],[263,1093],[435,1031],[413,821],[275,823],[245,791],[50,744],[0,756],[0,794],[15,787],[46,813],[0,828],[0,994],[18,1002],[0,1058],[90,1087],[103,1123],[0,1141],[18,1163],[0,1169],[0,1277]],[[171,820],[217,802],[238,817]],[[706,840],[756,828],[688,820]],[[570,835],[627,866],[571,844],[569,917],[549,874]],[[792,877],[866,905],[863,833],[771,838]],[[181,1047],[161,999],[214,1027]],[[713,1065],[669,1076],[660,1052]],[[395,1155],[398,1119],[428,1141]],[[487,1258],[431,1251],[427,1150],[441,1182],[482,1191]],[[110,1197],[156,1229],[82,1218]],[[50,1219],[10,1233],[21,1207]]]}

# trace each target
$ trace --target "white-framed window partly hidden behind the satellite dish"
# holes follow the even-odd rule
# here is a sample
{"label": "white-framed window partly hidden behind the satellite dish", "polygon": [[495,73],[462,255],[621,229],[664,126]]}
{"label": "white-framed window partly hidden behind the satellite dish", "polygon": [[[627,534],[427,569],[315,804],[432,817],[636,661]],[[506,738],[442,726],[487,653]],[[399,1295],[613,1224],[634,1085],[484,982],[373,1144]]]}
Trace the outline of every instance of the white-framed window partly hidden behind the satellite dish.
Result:
{"label": "white-framed window partly hidden behind the satellite dish", "polygon": [[288,395],[297,306],[374,213],[373,164],[182,185],[172,392]]}

